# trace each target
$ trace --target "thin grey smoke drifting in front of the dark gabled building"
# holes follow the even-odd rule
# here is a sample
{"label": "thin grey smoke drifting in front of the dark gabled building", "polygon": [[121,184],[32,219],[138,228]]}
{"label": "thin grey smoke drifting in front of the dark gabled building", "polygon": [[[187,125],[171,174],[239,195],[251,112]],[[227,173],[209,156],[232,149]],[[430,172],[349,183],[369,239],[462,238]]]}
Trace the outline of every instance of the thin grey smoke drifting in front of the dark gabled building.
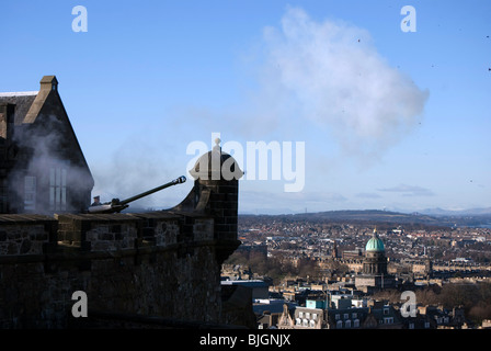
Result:
{"label": "thin grey smoke drifting in front of the dark gabled building", "polygon": [[11,206],[36,214],[81,212],[90,201],[90,174],[78,161],[66,123],[55,115],[38,118],[34,125],[16,126],[13,133],[16,159],[8,183],[15,199]]}

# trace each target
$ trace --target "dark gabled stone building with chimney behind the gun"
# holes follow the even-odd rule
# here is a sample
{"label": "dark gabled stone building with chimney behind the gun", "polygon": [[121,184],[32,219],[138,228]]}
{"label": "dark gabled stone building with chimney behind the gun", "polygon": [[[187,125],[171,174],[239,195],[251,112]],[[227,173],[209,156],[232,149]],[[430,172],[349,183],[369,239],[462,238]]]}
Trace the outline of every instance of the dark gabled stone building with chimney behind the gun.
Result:
{"label": "dark gabled stone building with chimney behind the gun", "polygon": [[0,93],[0,213],[82,212],[93,185],[55,76]]}

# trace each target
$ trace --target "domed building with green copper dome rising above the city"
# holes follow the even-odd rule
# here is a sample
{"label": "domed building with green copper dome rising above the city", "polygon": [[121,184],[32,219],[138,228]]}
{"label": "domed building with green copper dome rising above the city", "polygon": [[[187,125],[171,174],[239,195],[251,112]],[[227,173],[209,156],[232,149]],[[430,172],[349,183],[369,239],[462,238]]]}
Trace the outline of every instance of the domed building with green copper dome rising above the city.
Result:
{"label": "domed building with green copper dome rising above the city", "polygon": [[395,286],[395,279],[387,273],[387,258],[384,241],[374,229],[365,246],[362,274],[355,278],[356,288],[365,292]]}

